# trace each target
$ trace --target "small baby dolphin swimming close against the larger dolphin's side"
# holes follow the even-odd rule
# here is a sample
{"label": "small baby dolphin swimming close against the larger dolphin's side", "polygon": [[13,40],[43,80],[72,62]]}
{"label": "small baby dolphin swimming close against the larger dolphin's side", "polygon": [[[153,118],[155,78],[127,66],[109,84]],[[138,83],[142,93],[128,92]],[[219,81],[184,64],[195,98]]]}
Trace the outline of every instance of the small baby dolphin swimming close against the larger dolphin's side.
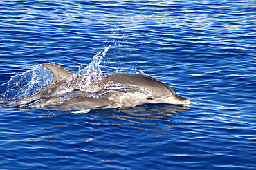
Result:
{"label": "small baby dolphin swimming close against the larger dolphin's side", "polygon": [[26,103],[26,105],[19,106],[19,108],[35,107],[46,110],[79,111],[80,113],[87,113],[91,109],[119,108],[120,103],[113,103],[113,101],[99,96],[98,94],[73,90],[72,92],[64,94],[41,96],[40,98]]}

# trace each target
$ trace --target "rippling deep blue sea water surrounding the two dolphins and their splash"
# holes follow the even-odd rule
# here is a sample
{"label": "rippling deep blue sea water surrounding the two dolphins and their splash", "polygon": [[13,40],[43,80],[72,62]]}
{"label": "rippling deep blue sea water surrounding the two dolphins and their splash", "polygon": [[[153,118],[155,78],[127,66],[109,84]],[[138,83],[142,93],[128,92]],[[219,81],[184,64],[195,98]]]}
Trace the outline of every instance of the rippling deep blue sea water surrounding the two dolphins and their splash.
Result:
{"label": "rippling deep blue sea water surrounding the two dolphins and their splash", "polygon": [[1,108],[0,169],[256,169],[255,28],[255,1],[1,1],[0,84],[44,62],[78,72],[111,45],[102,71],[192,104]]}

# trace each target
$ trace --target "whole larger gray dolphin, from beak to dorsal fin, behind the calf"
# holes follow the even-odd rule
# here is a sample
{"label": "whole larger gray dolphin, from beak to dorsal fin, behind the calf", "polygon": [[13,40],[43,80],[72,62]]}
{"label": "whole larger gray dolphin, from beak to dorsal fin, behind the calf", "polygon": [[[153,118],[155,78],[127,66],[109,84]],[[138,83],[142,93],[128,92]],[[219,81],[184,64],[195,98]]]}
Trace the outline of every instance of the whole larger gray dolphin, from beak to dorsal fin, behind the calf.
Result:
{"label": "whole larger gray dolphin, from beak to dorsal fin, behind the calf", "polygon": [[[43,63],[42,66],[51,71],[53,74],[53,81],[50,85],[44,87],[35,94],[24,98],[23,103],[28,103],[28,101],[34,100],[35,98],[40,98],[40,96],[46,96],[45,103],[51,103],[54,102],[54,100],[62,100],[63,97],[60,99],[60,96],[56,96],[56,94],[62,92],[62,90],[66,88],[70,91],[78,89],[82,92],[89,92],[101,96],[102,98],[98,98],[98,101],[95,101],[95,98],[89,99],[88,96],[73,96],[72,99],[63,99],[60,105],[77,103],[75,107],[78,107],[78,105],[85,105],[82,103],[89,102],[89,100],[94,100],[93,102],[95,105],[98,105],[103,100],[109,100],[112,105],[110,108],[116,107],[118,109],[127,109],[145,103],[168,103],[174,105],[190,105],[191,103],[190,100],[177,96],[174,89],[165,83],[142,74],[106,73],[88,82],[84,76],[75,74],[61,65],[55,63]],[[78,84],[79,86],[77,86]],[[64,93],[62,96],[72,96],[72,93],[73,92],[70,94]],[[42,99],[43,98],[41,98],[41,100]],[[104,106],[99,108],[104,108]]]}

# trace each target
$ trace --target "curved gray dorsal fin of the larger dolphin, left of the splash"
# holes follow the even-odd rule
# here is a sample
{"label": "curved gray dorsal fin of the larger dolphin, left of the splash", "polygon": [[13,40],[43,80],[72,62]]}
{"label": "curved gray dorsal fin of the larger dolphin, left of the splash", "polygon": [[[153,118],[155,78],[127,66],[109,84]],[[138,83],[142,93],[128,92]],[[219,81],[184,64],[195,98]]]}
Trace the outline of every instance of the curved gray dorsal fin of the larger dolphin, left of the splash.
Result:
{"label": "curved gray dorsal fin of the larger dolphin, left of the splash", "polygon": [[43,67],[46,67],[50,70],[53,74],[53,81],[55,82],[65,82],[68,78],[73,76],[75,73],[67,70],[66,68],[62,67],[61,65],[57,65],[55,63],[43,63]]}

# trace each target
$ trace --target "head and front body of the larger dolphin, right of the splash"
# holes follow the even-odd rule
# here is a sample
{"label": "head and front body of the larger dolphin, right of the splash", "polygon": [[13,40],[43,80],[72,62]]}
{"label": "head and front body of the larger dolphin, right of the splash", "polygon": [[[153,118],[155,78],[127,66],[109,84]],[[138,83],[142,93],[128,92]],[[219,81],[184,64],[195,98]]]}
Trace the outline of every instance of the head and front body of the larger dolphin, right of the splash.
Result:
{"label": "head and front body of the larger dolphin, right of the splash", "polygon": [[[127,109],[145,103],[190,105],[190,100],[177,96],[174,89],[150,76],[131,73],[104,74],[102,89],[95,94],[104,96]],[[103,86],[104,85],[104,86]]]}

